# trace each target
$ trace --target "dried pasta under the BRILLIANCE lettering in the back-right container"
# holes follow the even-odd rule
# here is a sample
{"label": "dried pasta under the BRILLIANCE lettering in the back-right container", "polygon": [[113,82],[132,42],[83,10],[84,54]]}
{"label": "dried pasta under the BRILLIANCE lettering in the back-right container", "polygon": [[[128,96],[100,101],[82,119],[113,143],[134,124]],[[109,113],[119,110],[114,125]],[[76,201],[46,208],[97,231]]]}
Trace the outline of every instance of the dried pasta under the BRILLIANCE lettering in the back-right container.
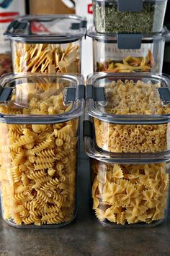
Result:
{"label": "dried pasta under the BRILLIANCE lettering in the back-right container", "polygon": [[127,56],[122,61],[113,61],[108,59],[104,63],[97,62],[97,72],[151,72],[151,69],[155,67],[155,61],[150,50],[146,57],[133,57]]}

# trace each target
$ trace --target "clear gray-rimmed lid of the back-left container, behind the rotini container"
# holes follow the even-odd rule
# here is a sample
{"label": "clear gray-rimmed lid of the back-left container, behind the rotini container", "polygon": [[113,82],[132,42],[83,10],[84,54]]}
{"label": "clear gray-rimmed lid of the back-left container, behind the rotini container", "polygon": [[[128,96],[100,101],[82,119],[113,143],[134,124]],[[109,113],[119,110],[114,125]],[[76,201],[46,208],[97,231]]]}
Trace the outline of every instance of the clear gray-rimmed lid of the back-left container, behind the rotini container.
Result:
{"label": "clear gray-rimmed lid of the back-left container, behind the rotini container", "polygon": [[25,15],[12,21],[4,35],[29,43],[68,43],[83,38],[86,20],[77,15]]}

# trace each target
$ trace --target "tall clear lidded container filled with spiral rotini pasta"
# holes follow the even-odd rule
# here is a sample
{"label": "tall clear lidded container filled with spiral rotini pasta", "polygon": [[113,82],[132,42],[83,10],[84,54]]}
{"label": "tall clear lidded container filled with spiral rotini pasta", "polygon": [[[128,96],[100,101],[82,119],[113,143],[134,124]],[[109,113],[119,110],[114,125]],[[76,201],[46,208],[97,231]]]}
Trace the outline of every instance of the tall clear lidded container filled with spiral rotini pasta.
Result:
{"label": "tall clear lidded container filled with spiral rotini pasta", "polygon": [[[15,227],[60,227],[76,216],[82,77],[9,74],[1,78],[0,189],[4,220]],[[80,87],[79,87],[80,84]],[[81,90],[80,90],[81,89]]]}

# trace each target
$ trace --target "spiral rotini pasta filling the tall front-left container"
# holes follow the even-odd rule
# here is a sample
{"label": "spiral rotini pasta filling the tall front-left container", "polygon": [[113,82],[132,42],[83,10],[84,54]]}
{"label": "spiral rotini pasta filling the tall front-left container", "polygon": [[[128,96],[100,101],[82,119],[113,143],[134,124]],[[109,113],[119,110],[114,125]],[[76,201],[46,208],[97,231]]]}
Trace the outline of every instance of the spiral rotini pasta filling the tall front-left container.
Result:
{"label": "spiral rotini pasta filling the tall front-left container", "polygon": [[[56,90],[56,84],[53,86]],[[53,86],[50,85],[52,91]],[[27,108],[15,104],[15,95],[8,105],[0,106],[1,113],[57,114],[67,111],[61,90],[57,95],[49,95],[48,87],[44,85],[42,89],[42,85],[34,84],[33,93],[28,93]],[[42,94],[36,94],[38,90]],[[73,219],[77,129],[78,119],[61,124],[0,124],[4,219],[17,225],[59,224]],[[61,143],[58,144],[58,140]]]}

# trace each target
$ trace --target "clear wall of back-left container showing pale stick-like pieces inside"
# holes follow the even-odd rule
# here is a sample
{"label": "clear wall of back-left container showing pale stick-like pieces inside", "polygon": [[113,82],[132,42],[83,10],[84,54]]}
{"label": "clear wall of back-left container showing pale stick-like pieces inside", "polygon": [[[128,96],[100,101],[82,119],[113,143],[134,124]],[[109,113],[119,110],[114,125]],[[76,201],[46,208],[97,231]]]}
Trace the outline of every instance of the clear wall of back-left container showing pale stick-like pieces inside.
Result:
{"label": "clear wall of back-left container showing pale stick-like pieces inside", "polygon": [[25,43],[11,41],[16,73],[81,74],[81,40],[72,43]]}

